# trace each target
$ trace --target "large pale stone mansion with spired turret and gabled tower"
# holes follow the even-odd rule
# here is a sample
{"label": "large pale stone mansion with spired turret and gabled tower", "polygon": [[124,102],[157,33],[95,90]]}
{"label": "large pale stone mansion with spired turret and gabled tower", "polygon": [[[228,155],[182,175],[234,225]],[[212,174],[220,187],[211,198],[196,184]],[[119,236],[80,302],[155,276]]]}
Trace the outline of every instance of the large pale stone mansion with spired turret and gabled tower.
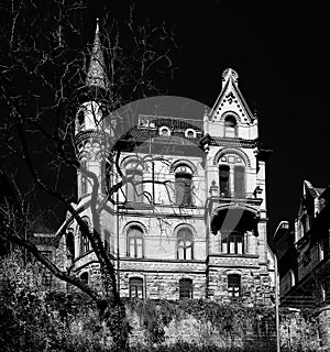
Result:
{"label": "large pale stone mansion with spired turret and gabled tower", "polygon": [[[74,206],[91,228],[91,204],[102,199],[99,233],[120,277],[121,296],[271,301],[270,151],[260,147],[257,118],[238,78],[231,68],[223,72],[221,92],[199,120],[139,114],[135,125],[118,136],[113,131],[124,127],[120,112],[116,118],[106,109],[102,92],[109,86],[97,28],[75,143],[100,190],[95,197],[82,172]],[[97,285],[98,261],[70,216],[57,238],[57,261]]]}

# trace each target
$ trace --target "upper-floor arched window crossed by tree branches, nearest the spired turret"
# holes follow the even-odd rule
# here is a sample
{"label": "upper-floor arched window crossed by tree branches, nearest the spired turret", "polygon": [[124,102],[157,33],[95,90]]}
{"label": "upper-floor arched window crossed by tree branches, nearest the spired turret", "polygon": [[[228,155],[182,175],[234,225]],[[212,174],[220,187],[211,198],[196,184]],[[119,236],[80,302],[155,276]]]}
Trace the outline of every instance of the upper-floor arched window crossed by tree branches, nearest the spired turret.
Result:
{"label": "upper-floor arched window crossed by tree branches, nearest the spired turret", "polygon": [[130,163],[125,170],[127,177],[127,201],[143,201],[143,172],[136,168],[136,163]]}

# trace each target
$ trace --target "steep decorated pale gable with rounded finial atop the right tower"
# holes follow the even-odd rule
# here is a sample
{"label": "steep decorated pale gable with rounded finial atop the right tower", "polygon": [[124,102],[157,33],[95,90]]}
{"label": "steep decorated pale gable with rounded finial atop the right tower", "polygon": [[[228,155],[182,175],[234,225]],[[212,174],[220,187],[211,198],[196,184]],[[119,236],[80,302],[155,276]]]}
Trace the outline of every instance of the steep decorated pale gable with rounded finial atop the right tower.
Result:
{"label": "steep decorated pale gable with rounded finial atop the right tower", "polygon": [[[241,121],[253,122],[256,118],[251,112],[245,99],[243,98],[239,86],[239,75],[232,68],[227,68],[222,74],[222,89],[211,110],[211,118],[222,114],[230,106],[235,106]],[[226,107],[227,106],[227,107]]]}

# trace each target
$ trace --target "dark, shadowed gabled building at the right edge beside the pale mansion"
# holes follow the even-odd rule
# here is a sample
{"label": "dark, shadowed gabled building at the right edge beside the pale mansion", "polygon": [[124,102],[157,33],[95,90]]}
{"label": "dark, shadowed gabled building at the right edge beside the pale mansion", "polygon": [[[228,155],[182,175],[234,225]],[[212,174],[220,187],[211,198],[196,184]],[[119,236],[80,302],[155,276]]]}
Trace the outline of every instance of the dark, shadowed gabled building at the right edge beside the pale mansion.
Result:
{"label": "dark, shadowed gabled building at the right edge beside the pale mansion", "polygon": [[319,307],[329,302],[329,186],[304,182],[294,223],[279,224],[274,242],[278,257],[282,305]]}

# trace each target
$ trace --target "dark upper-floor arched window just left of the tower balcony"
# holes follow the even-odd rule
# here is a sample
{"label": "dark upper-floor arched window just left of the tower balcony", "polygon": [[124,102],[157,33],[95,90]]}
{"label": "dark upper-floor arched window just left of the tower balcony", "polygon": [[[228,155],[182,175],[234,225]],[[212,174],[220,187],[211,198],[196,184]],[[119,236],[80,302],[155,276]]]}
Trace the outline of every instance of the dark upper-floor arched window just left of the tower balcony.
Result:
{"label": "dark upper-floor arched window just left of the tower balcony", "polygon": [[193,205],[193,170],[186,165],[175,169],[175,201],[177,206]]}

